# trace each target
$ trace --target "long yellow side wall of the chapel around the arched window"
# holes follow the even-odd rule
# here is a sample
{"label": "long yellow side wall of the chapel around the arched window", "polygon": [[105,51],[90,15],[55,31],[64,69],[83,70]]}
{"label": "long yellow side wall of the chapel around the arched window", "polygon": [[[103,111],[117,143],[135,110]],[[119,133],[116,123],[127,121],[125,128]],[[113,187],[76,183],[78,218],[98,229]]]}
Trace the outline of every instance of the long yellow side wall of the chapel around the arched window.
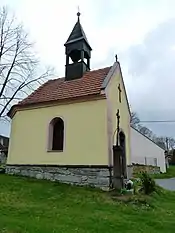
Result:
{"label": "long yellow side wall of the chapel around the arched window", "polygon": [[[18,111],[12,120],[8,164],[107,165],[106,100]],[[65,124],[63,152],[47,152],[48,126]]]}

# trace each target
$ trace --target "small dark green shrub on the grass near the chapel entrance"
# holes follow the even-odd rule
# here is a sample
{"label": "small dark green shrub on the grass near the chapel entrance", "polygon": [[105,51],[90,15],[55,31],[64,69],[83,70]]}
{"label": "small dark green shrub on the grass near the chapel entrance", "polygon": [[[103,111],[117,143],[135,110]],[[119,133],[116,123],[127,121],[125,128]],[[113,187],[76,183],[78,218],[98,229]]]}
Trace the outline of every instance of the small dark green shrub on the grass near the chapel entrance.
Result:
{"label": "small dark green shrub on the grass near the chapel entrance", "polygon": [[151,194],[156,191],[156,183],[147,172],[141,174],[141,190],[144,194]]}

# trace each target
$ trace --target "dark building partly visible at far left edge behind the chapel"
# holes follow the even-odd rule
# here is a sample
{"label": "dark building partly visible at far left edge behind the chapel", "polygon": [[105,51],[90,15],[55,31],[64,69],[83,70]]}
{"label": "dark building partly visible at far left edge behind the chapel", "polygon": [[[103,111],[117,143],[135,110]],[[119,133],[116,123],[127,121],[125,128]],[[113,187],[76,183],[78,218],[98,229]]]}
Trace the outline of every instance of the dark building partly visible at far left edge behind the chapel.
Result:
{"label": "dark building partly visible at far left edge behind the chapel", "polygon": [[0,163],[5,163],[7,160],[9,146],[9,138],[0,135]]}

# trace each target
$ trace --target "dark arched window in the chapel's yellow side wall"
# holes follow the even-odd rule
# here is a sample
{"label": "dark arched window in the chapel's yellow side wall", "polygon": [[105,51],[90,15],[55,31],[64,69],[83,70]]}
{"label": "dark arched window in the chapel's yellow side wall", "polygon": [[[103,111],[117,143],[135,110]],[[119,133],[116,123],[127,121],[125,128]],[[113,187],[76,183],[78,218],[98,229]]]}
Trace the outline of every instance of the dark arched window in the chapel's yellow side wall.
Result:
{"label": "dark arched window in the chapel's yellow side wall", "polygon": [[63,151],[64,122],[60,117],[54,118],[49,125],[49,150]]}

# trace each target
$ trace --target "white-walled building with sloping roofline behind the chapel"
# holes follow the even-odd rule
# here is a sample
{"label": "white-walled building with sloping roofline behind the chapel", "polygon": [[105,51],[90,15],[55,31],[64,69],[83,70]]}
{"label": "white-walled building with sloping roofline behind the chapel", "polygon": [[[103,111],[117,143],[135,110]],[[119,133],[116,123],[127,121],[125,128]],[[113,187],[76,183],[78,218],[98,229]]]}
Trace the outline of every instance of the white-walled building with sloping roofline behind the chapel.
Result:
{"label": "white-walled building with sloping roofline behind the chapel", "polygon": [[161,172],[166,172],[164,149],[133,127],[131,127],[131,163],[158,166]]}

